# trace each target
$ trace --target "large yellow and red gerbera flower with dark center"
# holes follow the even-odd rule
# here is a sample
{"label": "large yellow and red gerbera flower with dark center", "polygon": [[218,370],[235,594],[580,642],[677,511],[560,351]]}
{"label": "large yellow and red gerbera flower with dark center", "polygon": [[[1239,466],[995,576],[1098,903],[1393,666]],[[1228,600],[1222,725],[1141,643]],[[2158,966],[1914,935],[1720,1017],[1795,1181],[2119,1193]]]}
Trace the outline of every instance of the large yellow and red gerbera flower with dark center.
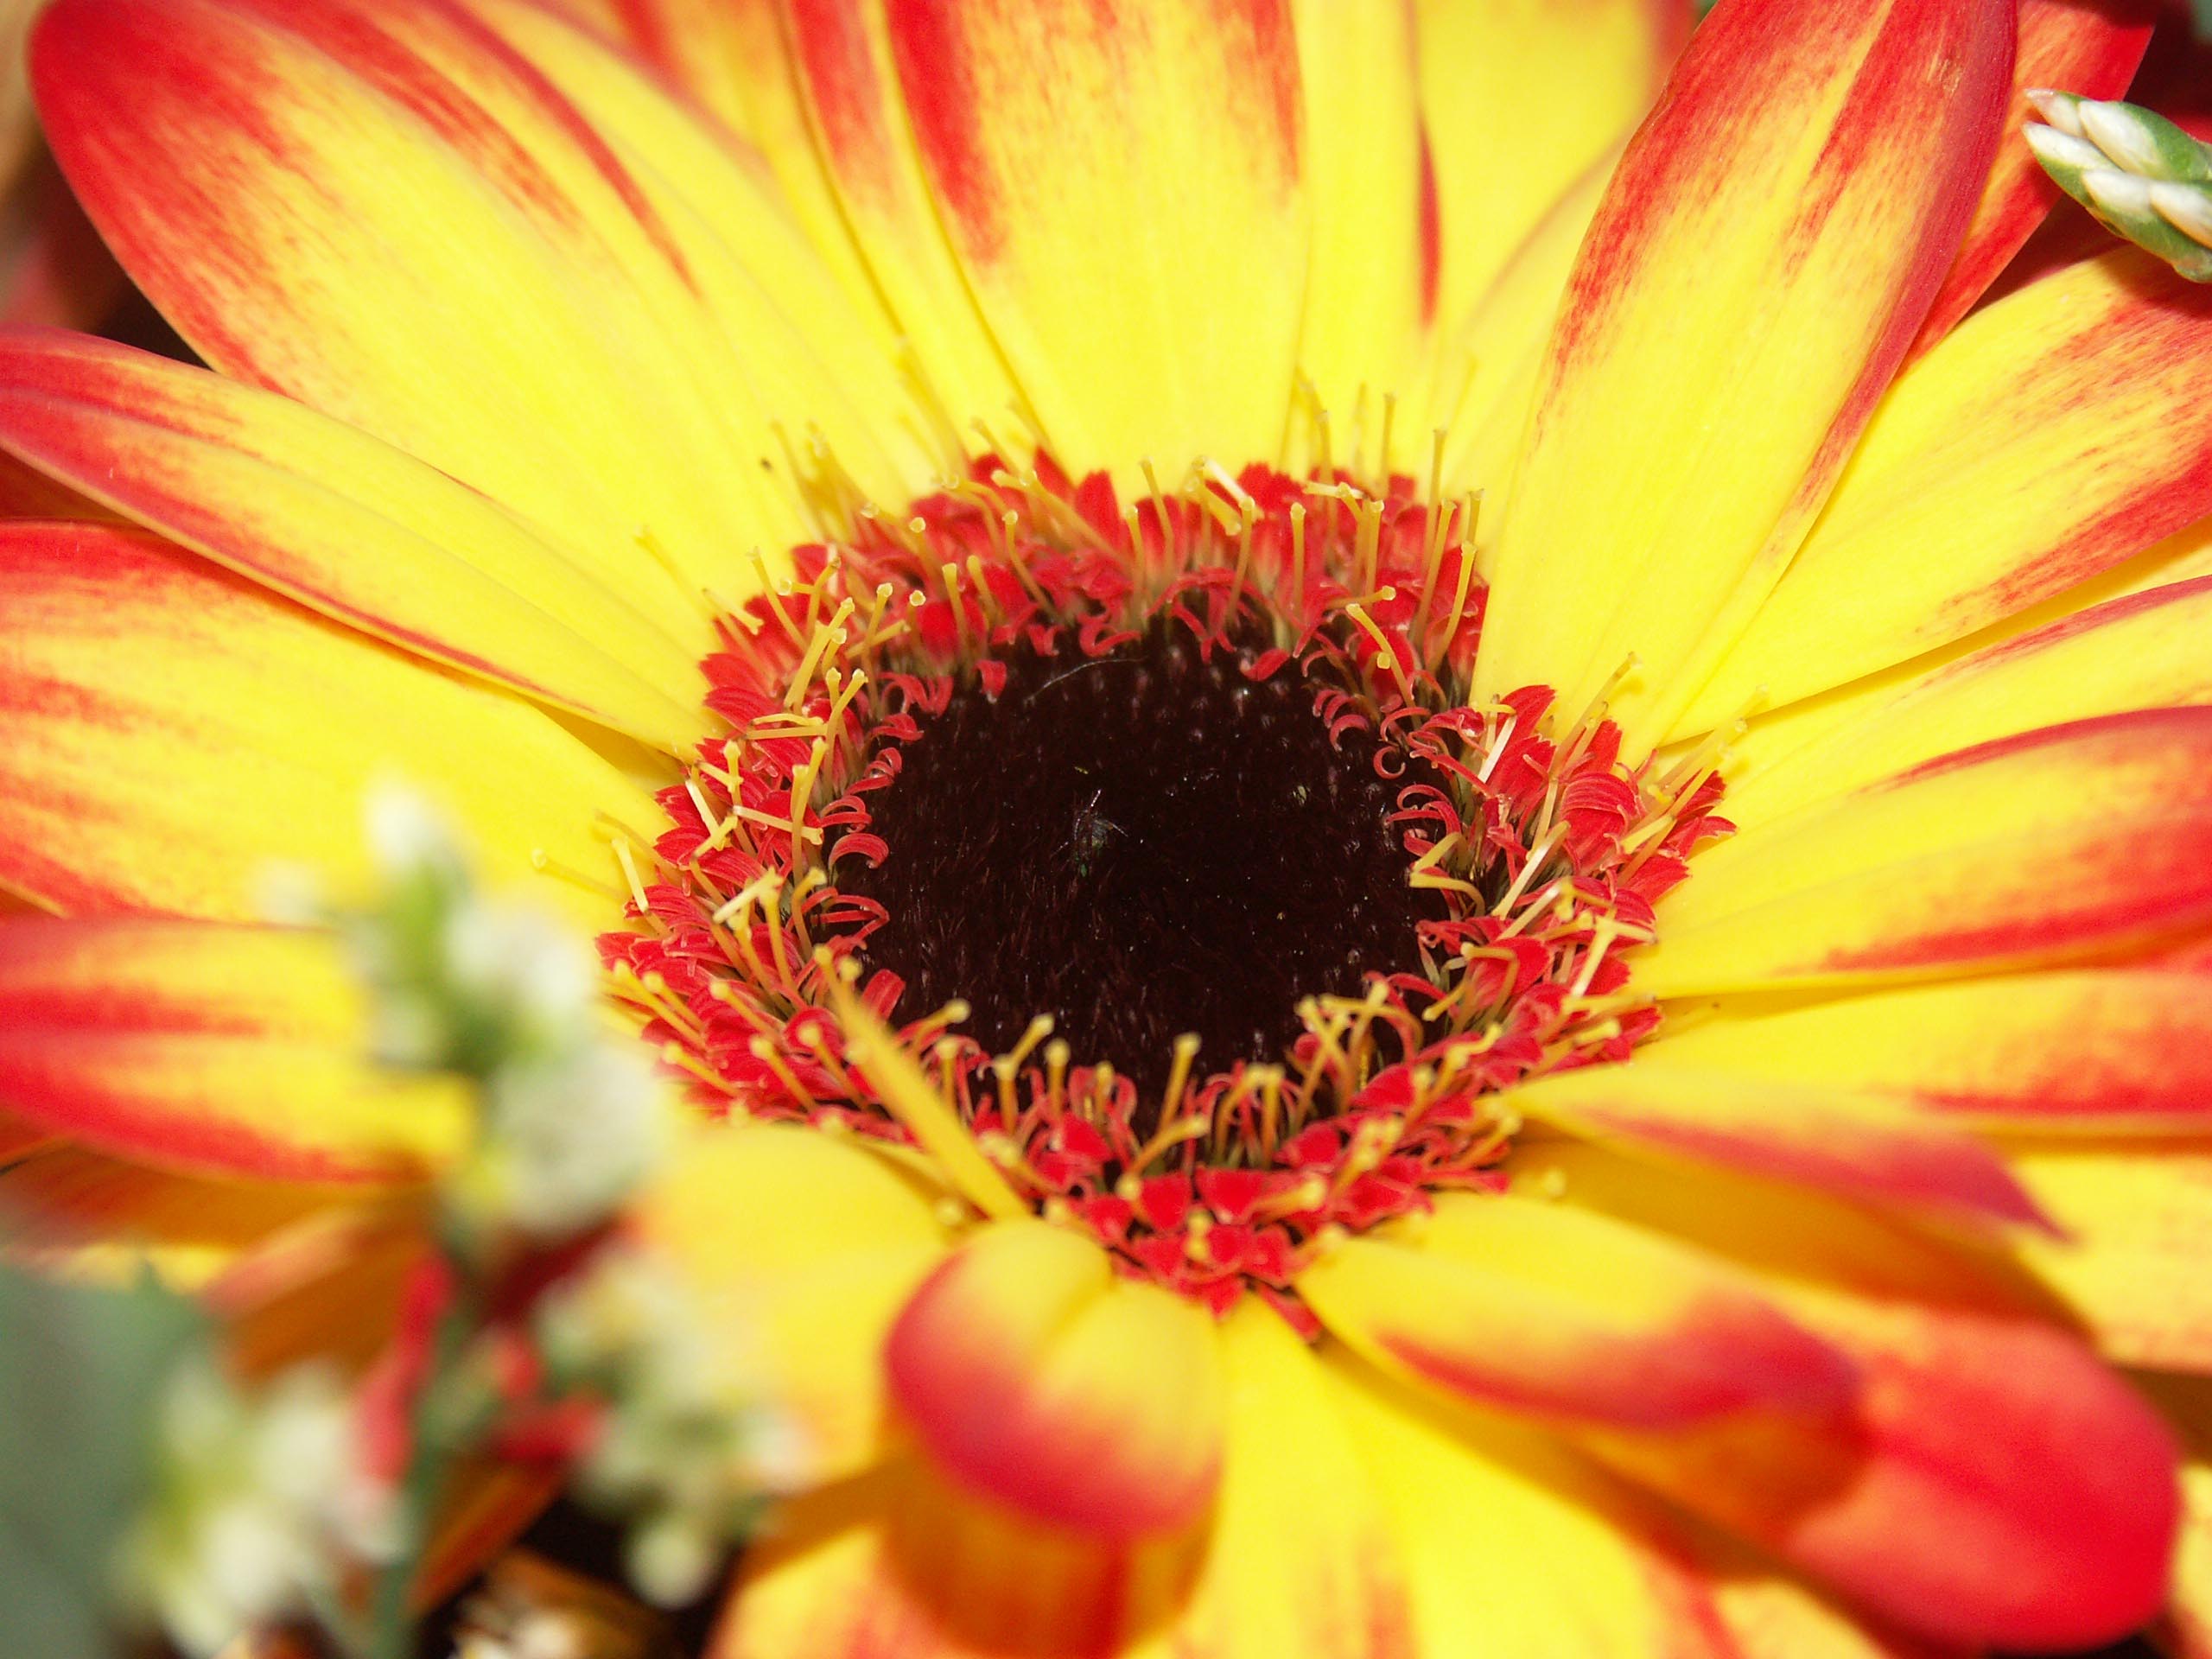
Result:
{"label": "large yellow and red gerbera flower with dark center", "polygon": [[723,1655],[2201,1641],[2212,314],[1975,310],[2146,29],[1615,155],[1663,15],[58,0],[215,372],[0,336],[139,526],[0,526],[9,1186],[237,1303],[451,1157],[246,925],[398,765],[697,1084]]}

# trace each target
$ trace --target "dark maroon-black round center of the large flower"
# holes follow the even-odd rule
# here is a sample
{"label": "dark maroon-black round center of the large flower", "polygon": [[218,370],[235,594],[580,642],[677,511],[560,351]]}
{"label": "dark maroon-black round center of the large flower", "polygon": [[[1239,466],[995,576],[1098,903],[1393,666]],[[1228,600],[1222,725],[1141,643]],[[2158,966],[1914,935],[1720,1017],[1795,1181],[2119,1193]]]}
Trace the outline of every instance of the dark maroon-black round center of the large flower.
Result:
{"label": "dark maroon-black round center of the large flower", "polygon": [[[869,796],[885,854],[841,874],[885,922],[865,960],[905,980],[896,1013],[969,1004],[1011,1048],[1040,1013],[1082,1064],[1113,1062],[1157,1106],[1175,1040],[1197,1062],[1281,1060],[1310,995],[1418,973],[1418,920],[1367,730],[1329,737],[1272,639],[1214,648],[1179,622],[1086,657],[1004,653],[960,684]],[[1141,1133],[1157,1110],[1141,1110]]]}

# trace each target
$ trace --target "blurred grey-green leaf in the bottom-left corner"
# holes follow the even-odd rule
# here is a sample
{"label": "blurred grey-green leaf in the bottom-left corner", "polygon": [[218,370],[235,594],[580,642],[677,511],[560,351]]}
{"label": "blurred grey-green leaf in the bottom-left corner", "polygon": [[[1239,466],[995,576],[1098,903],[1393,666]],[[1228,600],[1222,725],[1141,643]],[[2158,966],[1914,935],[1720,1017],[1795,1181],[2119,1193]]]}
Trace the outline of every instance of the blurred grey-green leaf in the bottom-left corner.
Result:
{"label": "blurred grey-green leaf in the bottom-left corner", "polygon": [[0,1270],[0,1652],[108,1659],[113,1555],[146,1495],[153,1416],[197,1310],[153,1283]]}

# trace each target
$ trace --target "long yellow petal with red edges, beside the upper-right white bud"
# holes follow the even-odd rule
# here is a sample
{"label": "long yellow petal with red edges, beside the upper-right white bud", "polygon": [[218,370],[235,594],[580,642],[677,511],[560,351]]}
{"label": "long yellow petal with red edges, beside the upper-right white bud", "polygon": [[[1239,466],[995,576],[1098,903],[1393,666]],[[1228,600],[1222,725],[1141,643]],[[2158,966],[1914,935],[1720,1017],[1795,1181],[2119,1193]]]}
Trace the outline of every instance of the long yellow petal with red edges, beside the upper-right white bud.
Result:
{"label": "long yellow petal with red edges, beside the upper-right white bud", "polygon": [[[1480,695],[1666,732],[1781,577],[1958,250],[2013,7],[1730,0],[1568,285],[1498,544]],[[1661,456],[1659,465],[1632,465]]]}

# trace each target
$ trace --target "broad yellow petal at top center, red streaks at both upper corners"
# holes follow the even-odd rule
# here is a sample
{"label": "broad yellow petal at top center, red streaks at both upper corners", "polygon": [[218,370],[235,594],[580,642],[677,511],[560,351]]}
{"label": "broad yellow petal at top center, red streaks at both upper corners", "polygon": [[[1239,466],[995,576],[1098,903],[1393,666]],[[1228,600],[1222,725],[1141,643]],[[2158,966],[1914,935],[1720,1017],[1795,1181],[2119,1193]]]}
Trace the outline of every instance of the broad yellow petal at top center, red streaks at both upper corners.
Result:
{"label": "broad yellow petal at top center, red streaks at both upper corners", "polygon": [[1274,456],[1307,268],[1290,0],[885,11],[945,234],[1060,460]]}

